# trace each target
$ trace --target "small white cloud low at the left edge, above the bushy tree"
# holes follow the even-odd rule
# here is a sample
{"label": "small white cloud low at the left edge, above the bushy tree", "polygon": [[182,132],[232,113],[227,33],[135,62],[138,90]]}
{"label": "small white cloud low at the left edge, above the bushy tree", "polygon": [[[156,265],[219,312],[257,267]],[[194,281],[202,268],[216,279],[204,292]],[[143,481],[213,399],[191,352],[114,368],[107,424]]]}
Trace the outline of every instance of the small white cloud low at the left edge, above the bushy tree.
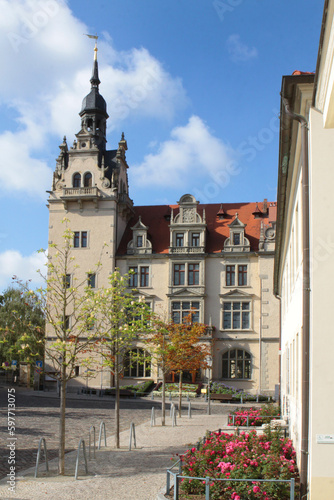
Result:
{"label": "small white cloud low at the left edge, above the bushy tree", "polygon": [[23,282],[31,280],[34,285],[40,285],[41,279],[37,273],[46,264],[43,253],[33,253],[23,256],[17,250],[7,250],[0,254],[0,290],[3,290],[12,283],[12,278],[16,276]]}

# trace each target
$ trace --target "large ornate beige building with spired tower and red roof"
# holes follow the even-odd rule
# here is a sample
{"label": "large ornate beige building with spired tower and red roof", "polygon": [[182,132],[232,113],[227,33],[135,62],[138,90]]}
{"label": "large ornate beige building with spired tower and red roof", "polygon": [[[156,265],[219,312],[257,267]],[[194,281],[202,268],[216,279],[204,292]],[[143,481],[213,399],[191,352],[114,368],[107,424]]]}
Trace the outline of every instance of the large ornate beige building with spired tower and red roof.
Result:
{"label": "large ornate beige building with spired tower and red roof", "polygon": [[[66,140],[60,146],[49,197],[50,243],[61,241],[64,217],[74,232],[72,254],[79,268],[71,279],[94,274],[99,260],[96,288],[107,285],[115,267],[124,274],[132,270],[131,288],[138,288],[154,313],[180,322],[191,311],[194,321],[208,326],[203,342],[212,345],[212,370],[198,373],[198,379],[274,394],[279,378],[279,304],[272,289],[276,203],[201,205],[185,194],[175,205],[134,207],[124,136],[117,149],[105,147],[108,115],[97,61],[91,83],[77,139],[71,148]],[[147,367],[124,375],[123,384],[158,377],[155,367],[151,373]],[[86,383],[109,387],[112,378],[103,372],[86,381],[79,373],[72,386]]]}

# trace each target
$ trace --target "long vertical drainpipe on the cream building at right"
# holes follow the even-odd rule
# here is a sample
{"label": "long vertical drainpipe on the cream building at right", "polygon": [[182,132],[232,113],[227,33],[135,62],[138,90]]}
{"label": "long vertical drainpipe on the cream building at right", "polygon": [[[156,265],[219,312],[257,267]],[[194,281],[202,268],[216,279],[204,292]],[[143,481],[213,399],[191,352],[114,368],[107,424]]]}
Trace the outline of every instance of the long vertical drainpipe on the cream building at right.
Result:
{"label": "long vertical drainpipe on the cream building at right", "polygon": [[307,498],[309,453],[309,399],[310,399],[310,220],[309,220],[309,158],[308,122],[293,113],[288,101],[282,97],[285,112],[301,126],[302,159],[302,219],[303,219],[303,340],[302,340],[302,433],[300,462],[300,498]]}

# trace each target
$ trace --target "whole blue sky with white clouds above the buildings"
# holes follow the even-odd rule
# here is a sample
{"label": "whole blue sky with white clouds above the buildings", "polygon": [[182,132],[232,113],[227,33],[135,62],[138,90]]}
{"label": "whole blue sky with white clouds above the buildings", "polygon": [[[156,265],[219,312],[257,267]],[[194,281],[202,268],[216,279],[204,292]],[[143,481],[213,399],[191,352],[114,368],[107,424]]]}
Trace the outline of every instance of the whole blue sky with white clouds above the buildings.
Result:
{"label": "whole blue sky with white clouds above the buildings", "polygon": [[98,35],[108,149],[135,205],[276,200],[283,75],[315,71],[322,0],[0,0],[0,291],[38,284],[58,146]]}

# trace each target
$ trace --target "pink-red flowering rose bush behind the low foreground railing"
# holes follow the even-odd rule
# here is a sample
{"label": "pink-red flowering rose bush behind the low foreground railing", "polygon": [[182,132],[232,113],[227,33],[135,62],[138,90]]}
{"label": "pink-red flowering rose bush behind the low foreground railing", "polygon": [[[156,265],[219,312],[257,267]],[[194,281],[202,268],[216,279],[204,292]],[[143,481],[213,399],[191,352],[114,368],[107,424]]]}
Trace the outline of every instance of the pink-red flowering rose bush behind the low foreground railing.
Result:
{"label": "pink-red flowering rose bush behind the low foreground railing", "polygon": [[[261,483],[256,479],[298,477],[291,440],[280,437],[280,431],[270,427],[263,435],[258,435],[255,430],[242,431],[240,435],[210,433],[199,450],[191,448],[182,460],[184,476],[231,480],[210,482],[212,500],[289,499],[289,483]],[[246,478],[253,481],[233,482],[233,479]],[[182,479],[180,492],[203,495],[204,482]]]}

